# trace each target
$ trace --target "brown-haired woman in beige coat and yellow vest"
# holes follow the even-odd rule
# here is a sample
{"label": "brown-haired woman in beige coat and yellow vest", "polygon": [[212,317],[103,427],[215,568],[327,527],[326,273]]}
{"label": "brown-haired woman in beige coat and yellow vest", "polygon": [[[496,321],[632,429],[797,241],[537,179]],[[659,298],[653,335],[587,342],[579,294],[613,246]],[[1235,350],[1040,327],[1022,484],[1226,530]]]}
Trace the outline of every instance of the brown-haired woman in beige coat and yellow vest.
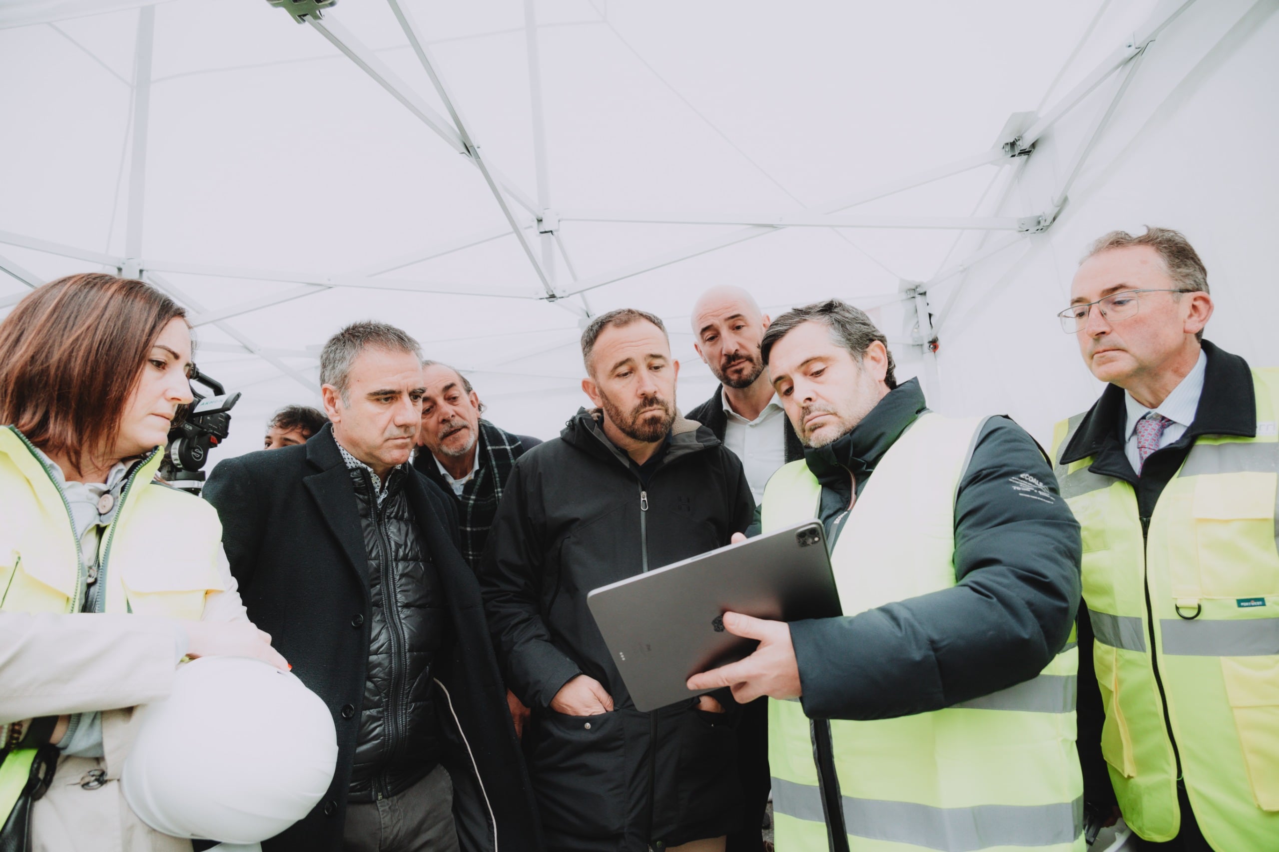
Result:
{"label": "brown-haired woman in beige coat and yellow vest", "polygon": [[184,656],[286,667],[244,614],[217,513],[155,478],[191,353],[180,306],[105,274],[0,321],[0,848],[191,849],[119,792],[133,709]]}

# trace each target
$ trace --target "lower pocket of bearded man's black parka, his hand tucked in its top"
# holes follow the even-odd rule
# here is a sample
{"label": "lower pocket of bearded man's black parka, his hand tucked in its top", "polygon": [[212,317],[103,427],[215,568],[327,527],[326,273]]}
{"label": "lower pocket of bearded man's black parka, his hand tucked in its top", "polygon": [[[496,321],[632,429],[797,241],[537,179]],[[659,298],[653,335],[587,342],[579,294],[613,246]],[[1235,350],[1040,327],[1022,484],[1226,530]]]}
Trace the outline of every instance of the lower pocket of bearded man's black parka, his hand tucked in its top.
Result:
{"label": "lower pocket of bearded man's black parka, his hand tucked in its top", "polygon": [[535,723],[528,774],[546,830],[583,839],[620,835],[628,805],[622,714],[544,710]]}

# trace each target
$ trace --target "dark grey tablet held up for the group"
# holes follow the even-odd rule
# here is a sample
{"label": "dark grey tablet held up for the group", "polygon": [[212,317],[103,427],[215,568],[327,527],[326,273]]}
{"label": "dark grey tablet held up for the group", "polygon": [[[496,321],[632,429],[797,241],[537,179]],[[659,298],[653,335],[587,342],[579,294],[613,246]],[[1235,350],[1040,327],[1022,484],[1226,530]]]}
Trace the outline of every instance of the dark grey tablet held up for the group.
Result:
{"label": "dark grey tablet held up for the group", "polygon": [[689,677],[751,654],[726,611],[796,622],[843,614],[820,521],[703,553],[586,596],[636,709],[688,700]]}

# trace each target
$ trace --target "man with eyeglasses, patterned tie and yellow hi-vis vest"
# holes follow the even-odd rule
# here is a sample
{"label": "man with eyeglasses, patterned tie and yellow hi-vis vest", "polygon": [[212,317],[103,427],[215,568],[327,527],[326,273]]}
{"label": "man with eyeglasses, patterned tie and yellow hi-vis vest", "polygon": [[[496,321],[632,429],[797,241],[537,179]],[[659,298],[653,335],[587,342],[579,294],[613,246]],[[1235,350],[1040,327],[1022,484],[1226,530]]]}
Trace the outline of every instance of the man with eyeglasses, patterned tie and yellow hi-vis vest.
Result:
{"label": "man with eyeglasses, patterned tie and yellow hi-vis vest", "polygon": [[1062,325],[1109,383],[1053,449],[1083,532],[1090,824],[1279,848],[1279,370],[1202,339],[1207,271],[1175,230],[1105,234],[1071,297]]}

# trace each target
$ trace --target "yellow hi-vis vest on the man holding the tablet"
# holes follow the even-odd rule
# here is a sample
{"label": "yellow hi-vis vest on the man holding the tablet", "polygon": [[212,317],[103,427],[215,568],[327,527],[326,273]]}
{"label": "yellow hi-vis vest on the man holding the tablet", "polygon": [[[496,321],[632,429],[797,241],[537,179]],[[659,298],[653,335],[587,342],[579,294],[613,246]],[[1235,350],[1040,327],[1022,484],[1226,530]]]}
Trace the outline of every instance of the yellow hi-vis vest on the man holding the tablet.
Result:
{"label": "yellow hi-vis vest on the man holding the tablet", "polygon": [[[925,413],[884,454],[831,554],[844,615],[955,585],[954,498],[984,423]],[[815,517],[820,499],[803,461],[784,466],[764,530]],[[1039,677],[945,710],[831,720],[849,848],[1082,852],[1077,654],[1072,638]],[[778,852],[829,848],[813,748],[801,704],[770,700]]]}

